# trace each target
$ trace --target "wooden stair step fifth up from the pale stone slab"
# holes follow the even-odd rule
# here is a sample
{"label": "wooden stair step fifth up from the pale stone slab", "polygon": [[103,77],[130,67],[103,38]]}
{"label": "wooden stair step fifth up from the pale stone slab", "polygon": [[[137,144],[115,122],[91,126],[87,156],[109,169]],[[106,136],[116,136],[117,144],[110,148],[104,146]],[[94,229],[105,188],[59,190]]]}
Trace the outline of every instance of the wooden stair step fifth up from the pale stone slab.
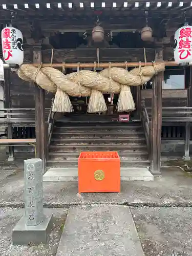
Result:
{"label": "wooden stair step fifth up from the pale stone slab", "polygon": [[144,138],[144,133],[143,131],[133,133],[133,131],[124,131],[124,132],[101,132],[101,131],[95,131],[95,132],[90,132],[90,131],[81,131],[81,132],[56,132],[54,131],[52,138],[53,139],[68,139],[68,138],[79,138],[79,139],[84,139],[84,138]]}

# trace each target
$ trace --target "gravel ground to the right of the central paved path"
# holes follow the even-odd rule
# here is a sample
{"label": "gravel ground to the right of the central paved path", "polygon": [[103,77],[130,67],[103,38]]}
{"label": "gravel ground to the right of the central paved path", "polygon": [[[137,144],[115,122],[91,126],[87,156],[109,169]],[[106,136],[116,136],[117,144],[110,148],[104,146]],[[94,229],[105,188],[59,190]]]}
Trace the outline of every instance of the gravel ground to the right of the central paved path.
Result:
{"label": "gravel ground to the right of the central paved path", "polygon": [[131,207],[146,256],[192,255],[191,207]]}

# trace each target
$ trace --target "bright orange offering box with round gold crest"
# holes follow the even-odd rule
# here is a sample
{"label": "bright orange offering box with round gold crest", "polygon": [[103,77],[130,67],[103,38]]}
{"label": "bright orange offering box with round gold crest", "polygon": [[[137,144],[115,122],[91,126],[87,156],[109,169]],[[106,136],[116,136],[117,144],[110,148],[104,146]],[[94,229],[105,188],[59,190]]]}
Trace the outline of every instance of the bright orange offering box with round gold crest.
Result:
{"label": "bright orange offering box with round gold crest", "polygon": [[81,152],[78,158],[79,193],[120,192],[117,152]]}

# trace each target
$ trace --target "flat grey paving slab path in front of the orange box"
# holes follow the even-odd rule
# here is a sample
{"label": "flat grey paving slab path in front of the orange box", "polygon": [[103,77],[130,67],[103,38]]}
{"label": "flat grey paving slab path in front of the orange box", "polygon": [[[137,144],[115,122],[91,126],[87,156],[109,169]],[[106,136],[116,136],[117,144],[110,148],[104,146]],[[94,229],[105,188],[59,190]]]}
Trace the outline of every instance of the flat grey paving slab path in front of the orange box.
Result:
{"label": "flat grey paving slab path in front of the orange box", "polygon": [[72,206],[56,256],[144,256],[127,206]]}

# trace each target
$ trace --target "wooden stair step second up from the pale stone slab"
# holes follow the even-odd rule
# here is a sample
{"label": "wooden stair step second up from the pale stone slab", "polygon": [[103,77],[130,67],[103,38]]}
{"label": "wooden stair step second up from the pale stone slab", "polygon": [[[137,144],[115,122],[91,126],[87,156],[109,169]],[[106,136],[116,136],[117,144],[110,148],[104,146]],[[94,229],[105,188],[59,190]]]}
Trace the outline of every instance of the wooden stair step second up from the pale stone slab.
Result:
{"label": "wooden stair step second up from the pale stone slab", "polygon": [[[50,152],[49,153],[49,160],[78,160],[80,152]],[[147,152],[131,152],[131,153],[122,153],[118,152],[120,159],[122,160],[148,160],[148,153]]]}

